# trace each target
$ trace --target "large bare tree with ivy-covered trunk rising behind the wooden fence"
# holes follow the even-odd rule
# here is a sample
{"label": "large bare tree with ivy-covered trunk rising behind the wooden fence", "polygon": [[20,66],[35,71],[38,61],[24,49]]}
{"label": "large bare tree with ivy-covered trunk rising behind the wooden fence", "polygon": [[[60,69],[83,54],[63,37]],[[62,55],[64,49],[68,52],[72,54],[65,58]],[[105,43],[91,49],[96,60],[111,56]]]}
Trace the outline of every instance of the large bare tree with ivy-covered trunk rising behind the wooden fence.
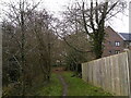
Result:
{"label": "large bare tree with ivy-covered trunk rising behind the wooden fence", "polygon": [[97,0],[91,0],[75,2],[74,5],[68,8],[64,14],[68,19],[67,22],[81,25],[82,30],[90,37],[92,50],[98,59],[103,54],[106,22],[124,9],[126,1],[105,0],[98,2]]}

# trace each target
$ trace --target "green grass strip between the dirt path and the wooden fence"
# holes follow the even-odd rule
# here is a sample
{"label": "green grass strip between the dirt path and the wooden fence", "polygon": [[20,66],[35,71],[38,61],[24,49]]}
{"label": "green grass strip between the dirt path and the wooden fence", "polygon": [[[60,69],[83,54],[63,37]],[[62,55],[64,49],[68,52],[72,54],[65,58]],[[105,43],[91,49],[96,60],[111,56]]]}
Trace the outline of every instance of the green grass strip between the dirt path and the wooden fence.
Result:
{"label": "green grass strip between the dirt path and the wooden fence", "polygon": [[82,78],[71,77],[71,72],[62,74],[68,84],[68,96],[111,96],[102,88],[88,85]]}

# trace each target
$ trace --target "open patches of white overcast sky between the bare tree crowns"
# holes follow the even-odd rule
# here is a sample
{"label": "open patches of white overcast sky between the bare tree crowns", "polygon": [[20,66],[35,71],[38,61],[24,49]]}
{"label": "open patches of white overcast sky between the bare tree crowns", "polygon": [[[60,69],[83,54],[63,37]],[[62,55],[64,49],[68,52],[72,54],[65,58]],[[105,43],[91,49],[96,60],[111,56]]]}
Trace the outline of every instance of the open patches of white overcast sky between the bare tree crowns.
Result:
{"label": "open patches of white overcast sky between the bare tree crowns", "polygon": [[[4,0],[0,0],[0,1],[4,1]],[[44,8],[46,8],[50,13],[53,13],[55,16],[59,16],[60,19],[60,13],[64,11],[66,7],[72,3],[73,1],[75,0],[44,0]],[[129,2],[131,0],[127,0],[127,1]],[[109,25],[116,32],[129,33],[129,11],[127,10],[126,14],[118,14],[116,19],[110,21]]]}

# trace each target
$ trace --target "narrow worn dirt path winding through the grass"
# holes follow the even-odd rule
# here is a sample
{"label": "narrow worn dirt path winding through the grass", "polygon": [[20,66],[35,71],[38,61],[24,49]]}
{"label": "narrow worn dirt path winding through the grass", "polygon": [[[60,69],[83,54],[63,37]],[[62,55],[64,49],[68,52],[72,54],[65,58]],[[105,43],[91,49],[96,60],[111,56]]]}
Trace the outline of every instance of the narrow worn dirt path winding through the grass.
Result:
{"label": "narrow worn dirt path winding through the grass", "polygon": [[67,96],[68,94],[68,84],[66,83],[64,78],[62,77],[62,75],[58,75],[58,78],[60,79],[62,86],[63,86],[63,89],[62,89],[62,96]]}

